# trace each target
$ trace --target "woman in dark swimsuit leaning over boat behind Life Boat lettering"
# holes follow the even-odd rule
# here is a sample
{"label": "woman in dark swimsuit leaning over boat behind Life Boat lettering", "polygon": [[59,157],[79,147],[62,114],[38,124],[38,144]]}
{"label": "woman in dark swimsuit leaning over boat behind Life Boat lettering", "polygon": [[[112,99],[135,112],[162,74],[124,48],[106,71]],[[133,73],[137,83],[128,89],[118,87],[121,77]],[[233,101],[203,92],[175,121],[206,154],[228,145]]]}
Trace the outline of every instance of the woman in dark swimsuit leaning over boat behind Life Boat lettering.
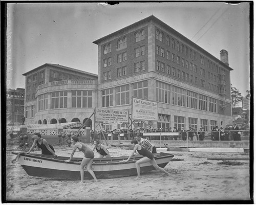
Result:
{"label": "woman in dark swimsuit leaning over boat behind Life Boat lettering", "polygon": [[55,150],[54,150],[53,146],[48,144],[48,142],[45,139],[42,139],[40,133],[38,133],[38,132],[34,133],[34,139],[35,140],[31,146],[31,148],[27,152],[27,154],[30,153],[34,149],[34,147],[37,145],[37,147],[39,147],[41,149],[42,154],[57,156],[55,154]]}

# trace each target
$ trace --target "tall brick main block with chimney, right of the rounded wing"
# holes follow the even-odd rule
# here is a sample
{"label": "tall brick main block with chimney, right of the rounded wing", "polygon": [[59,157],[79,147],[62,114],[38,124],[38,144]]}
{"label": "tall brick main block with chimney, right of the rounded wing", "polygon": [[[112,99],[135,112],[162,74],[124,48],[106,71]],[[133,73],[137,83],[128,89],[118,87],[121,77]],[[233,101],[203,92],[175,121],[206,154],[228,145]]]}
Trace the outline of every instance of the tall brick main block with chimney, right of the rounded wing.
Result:
{"label": "tall brick main block with chimney, right of the rounded wing", "polygon": [[156,101],[154,128],[207,131],[232,121],[227,51],[219,60],[153,15],[94,43],[99,106],[131,110],[132,97]]}

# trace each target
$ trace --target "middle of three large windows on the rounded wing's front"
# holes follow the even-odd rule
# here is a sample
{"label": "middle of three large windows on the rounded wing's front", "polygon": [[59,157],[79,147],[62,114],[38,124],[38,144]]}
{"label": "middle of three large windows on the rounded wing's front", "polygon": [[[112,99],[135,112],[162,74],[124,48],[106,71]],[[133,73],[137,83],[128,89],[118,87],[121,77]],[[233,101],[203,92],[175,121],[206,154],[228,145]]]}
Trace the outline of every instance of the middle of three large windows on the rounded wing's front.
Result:
{"label": "middle of three large windows on the rounded wing's front", "polygon": [[51,109],[67,108],[68,92],[59,91],[51,93]]}

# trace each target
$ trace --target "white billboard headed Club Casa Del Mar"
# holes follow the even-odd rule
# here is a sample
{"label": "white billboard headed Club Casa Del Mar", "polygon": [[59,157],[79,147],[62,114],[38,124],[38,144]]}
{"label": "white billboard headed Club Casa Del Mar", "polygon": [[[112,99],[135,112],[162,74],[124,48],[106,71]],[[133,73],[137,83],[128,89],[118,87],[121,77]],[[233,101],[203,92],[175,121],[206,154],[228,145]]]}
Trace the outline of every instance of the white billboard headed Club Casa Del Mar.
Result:
{"label": "white billboard headed Club Casa Del Mar", "polygon": [[132,103],[132,119],[144,121],[158,120],[158,104],[140,98],[133,98]]}

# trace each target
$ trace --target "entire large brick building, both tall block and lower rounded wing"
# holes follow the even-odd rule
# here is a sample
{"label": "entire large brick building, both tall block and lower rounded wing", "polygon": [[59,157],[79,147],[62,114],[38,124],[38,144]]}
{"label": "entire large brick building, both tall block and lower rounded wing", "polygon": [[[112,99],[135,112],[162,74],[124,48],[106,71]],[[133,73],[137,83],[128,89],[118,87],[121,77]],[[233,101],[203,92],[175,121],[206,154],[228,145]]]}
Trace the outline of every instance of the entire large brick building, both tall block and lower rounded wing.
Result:
{"label": "entire large brick building, both tall block and lower rounded wing", "polygon": [[[154,128],[208,131],[232,122],[227,51],[219,60],[153,15],[93,43],[98,75],[56,64],[23,74],[25,123],[84,122],[95,107],[131,111],[132,97],[158,103],[158,121],[147,122]],[[88,122],[94,128],[94,118]]]}

